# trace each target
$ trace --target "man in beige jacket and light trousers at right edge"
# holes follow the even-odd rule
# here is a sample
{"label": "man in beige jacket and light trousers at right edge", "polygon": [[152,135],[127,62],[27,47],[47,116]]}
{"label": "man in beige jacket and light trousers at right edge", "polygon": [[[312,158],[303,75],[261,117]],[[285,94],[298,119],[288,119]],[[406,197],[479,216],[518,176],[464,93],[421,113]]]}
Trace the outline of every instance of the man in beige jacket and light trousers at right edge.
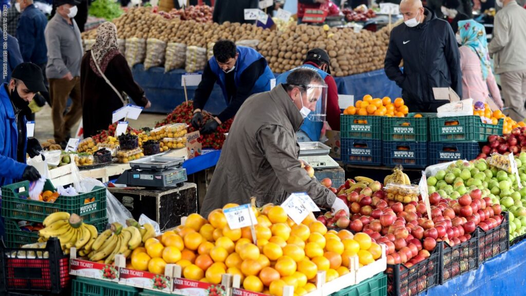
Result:
{"label": "man in beige jacket and light trousers at right edge", "polygon": [[497,4],[503,8],[495,15],[488,50],[495,73],[500,74],[507,115],[522,121],[526,117],[526,9],[515,0],[497,0]]}

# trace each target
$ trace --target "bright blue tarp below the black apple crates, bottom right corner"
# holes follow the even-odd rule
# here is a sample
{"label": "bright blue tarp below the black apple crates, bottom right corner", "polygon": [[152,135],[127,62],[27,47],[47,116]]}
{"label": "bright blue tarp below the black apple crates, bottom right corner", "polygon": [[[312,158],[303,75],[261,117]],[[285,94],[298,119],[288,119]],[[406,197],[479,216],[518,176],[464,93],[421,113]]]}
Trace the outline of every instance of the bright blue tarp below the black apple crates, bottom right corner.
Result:
{"label": "bright blue tarp below the black apple crates, bottom right corner", "polygon": [[524,296],[526,295],[526,241],[419,296]]}

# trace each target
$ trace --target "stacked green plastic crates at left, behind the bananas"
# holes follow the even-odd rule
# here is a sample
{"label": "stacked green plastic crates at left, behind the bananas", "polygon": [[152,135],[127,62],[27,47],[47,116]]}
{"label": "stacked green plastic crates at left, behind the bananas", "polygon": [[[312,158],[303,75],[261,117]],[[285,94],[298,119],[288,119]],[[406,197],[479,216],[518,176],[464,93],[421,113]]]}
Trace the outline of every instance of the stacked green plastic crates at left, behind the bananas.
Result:
{"label": "stacked green plastic crates at left, behind the bananas", "polygon": [[[53,184],[46,180],[43,191],[56,192]],[[20,248],[36,243],[38,231],[21,228],[18,222],[37,225],[55,212],[68,212],[81,216],[85,223],[94,225],[99,232],[106,228],[106,188],[95,186],[91,192],[76,196],[58,196],[54,202],[29,199],[29,182],[22,181],[2,187],[2,217],[5,224],[5,243],[8,248]],[[42,227],[42,226],[40,226]]]}

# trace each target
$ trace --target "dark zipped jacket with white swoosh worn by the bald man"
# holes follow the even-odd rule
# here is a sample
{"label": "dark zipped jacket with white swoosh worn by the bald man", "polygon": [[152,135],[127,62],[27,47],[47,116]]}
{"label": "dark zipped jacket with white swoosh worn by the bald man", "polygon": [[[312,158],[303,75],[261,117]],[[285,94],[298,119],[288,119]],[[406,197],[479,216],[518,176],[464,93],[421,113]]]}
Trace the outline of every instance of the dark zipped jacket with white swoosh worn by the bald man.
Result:
{"label": "dark zipped jacket with white swoosh worn by the bald man", "polygon": [[392,29],[384,67],[387,77],[402,88],[410,111],[436,112],[447,102],[434,100],[433,87],[451,87],[462,95],[460,54],[448,22],[427,8],[424,15],[426,20],[416,27],[400,24]]}

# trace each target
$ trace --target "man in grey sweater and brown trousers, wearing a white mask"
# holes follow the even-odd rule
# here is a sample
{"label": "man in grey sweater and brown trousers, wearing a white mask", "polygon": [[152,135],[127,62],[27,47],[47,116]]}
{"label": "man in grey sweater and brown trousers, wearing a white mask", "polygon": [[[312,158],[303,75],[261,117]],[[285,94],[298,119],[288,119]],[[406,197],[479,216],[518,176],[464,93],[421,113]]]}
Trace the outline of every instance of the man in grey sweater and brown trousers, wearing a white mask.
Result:
{"label": "man in grey sweater and brown trousers, wearing a white mask", "polygon": [[[76,0],[55,0],[57,13],[47,24],[44,35],[47,46],[46,76],[53,104],[55,142],[65,147],[72,127],[82,116],[80,98],[80,62],[84,51],[75,19]],[[64,114],[68,97],[73,104]]]}

